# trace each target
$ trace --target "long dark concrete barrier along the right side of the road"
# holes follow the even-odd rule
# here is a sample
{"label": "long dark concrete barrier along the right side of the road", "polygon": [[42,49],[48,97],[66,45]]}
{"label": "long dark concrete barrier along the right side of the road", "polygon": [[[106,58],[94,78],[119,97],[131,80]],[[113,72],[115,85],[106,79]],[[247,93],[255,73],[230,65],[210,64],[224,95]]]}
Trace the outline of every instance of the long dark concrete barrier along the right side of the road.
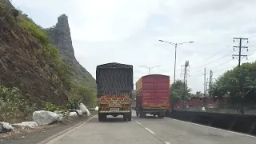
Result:
{"label": "long dark concrete barrier along the right side of the road", "polygon": [[168,117],[256,135],[256,115],[173,110]]}

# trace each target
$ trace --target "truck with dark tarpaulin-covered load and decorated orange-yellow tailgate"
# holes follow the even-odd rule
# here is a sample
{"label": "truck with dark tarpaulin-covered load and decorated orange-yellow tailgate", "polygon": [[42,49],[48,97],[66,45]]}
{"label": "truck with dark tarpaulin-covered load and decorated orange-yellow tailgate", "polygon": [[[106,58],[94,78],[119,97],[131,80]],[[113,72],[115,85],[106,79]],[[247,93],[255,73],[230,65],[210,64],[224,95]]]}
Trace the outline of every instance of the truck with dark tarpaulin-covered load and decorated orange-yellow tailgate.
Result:
{"label": "truck with dark tarpaulin-covered load and decorated orange-yellow tailgate", "polygon": [[97,66],[98,121],[106,121],[107,115],[123,115],[131,121],[131,98],[134,90],[133,66],[117,62]]}

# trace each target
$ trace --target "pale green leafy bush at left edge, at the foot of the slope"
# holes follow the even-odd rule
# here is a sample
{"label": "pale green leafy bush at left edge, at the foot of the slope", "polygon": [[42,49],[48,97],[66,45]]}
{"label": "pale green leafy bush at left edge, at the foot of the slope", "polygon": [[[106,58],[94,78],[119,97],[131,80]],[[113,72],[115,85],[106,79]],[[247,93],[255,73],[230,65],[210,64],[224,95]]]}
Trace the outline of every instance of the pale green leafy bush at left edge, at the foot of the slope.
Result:
{"label": "pale green leafy bush at left edge, at the foot of the slope", "polygon": [[0,85],[0,122],[20,122],[30,118],[34,110],[36,106],[30,105],[18,88]]}

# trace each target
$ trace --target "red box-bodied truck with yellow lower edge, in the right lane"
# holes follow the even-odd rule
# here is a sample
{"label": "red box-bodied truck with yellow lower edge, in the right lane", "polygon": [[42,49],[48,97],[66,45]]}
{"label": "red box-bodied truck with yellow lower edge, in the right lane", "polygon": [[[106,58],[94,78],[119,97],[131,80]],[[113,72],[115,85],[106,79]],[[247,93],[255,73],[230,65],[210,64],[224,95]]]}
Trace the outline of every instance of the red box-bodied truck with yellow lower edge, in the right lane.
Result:
{"label": "red box-bodied truck with yellow lower edge, in the right lane", "polygon": [[136,82],[136,115],[163,118],[170,110],[170,77],[162,74],[143,76]]}

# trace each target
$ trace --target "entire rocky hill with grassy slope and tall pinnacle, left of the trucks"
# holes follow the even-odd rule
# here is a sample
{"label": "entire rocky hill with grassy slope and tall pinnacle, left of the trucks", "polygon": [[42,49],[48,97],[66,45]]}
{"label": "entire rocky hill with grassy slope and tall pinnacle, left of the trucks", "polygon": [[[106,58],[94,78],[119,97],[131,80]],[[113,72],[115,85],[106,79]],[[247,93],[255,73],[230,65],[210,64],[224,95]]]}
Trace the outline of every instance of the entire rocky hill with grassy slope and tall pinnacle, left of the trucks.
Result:
{"label": "entire rocky hill with grassy slope and tall pinnacle, left of the trucks", "polygon": [[94,78],[74,57],[66,15],[46,30],[0,0],[0,122],[46,102],[66,107],[73,95],[92,102],[92,87]]}

